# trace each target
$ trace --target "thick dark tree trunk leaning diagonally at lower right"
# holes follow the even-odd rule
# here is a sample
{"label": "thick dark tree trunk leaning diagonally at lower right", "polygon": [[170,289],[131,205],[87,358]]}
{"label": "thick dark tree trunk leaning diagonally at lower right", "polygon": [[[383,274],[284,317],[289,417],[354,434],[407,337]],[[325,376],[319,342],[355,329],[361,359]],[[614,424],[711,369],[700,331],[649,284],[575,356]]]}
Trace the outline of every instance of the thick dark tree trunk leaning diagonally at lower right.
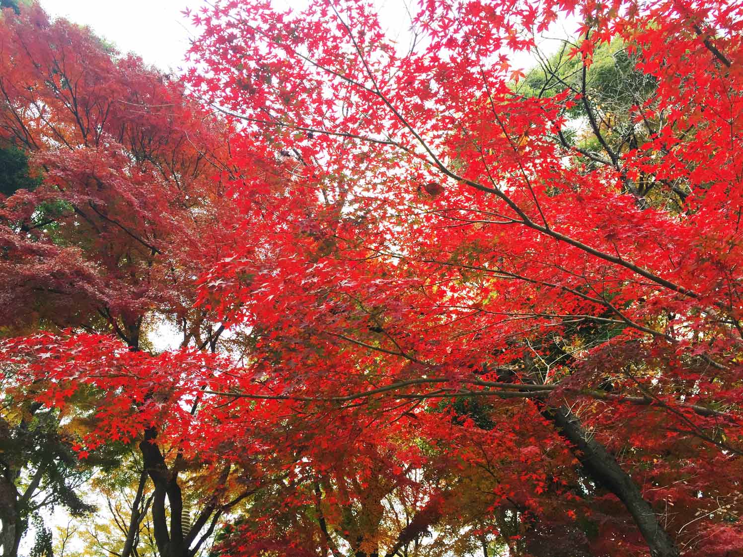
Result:
{"label": "thick dark tree trunk leaning diagonally at lower right", "polygon": [[658,521],[652,506],[645,501],[637,484],[632,481],[606,447],[587,434],[580,420],[566,406],[545,407],[542,415],[557,426],[559,434],[574,447],[577,459],[591,479],[599,483],[626,506],[640,533],[645,538],[652,557],[678,557],[679,551],[668,532]]}

